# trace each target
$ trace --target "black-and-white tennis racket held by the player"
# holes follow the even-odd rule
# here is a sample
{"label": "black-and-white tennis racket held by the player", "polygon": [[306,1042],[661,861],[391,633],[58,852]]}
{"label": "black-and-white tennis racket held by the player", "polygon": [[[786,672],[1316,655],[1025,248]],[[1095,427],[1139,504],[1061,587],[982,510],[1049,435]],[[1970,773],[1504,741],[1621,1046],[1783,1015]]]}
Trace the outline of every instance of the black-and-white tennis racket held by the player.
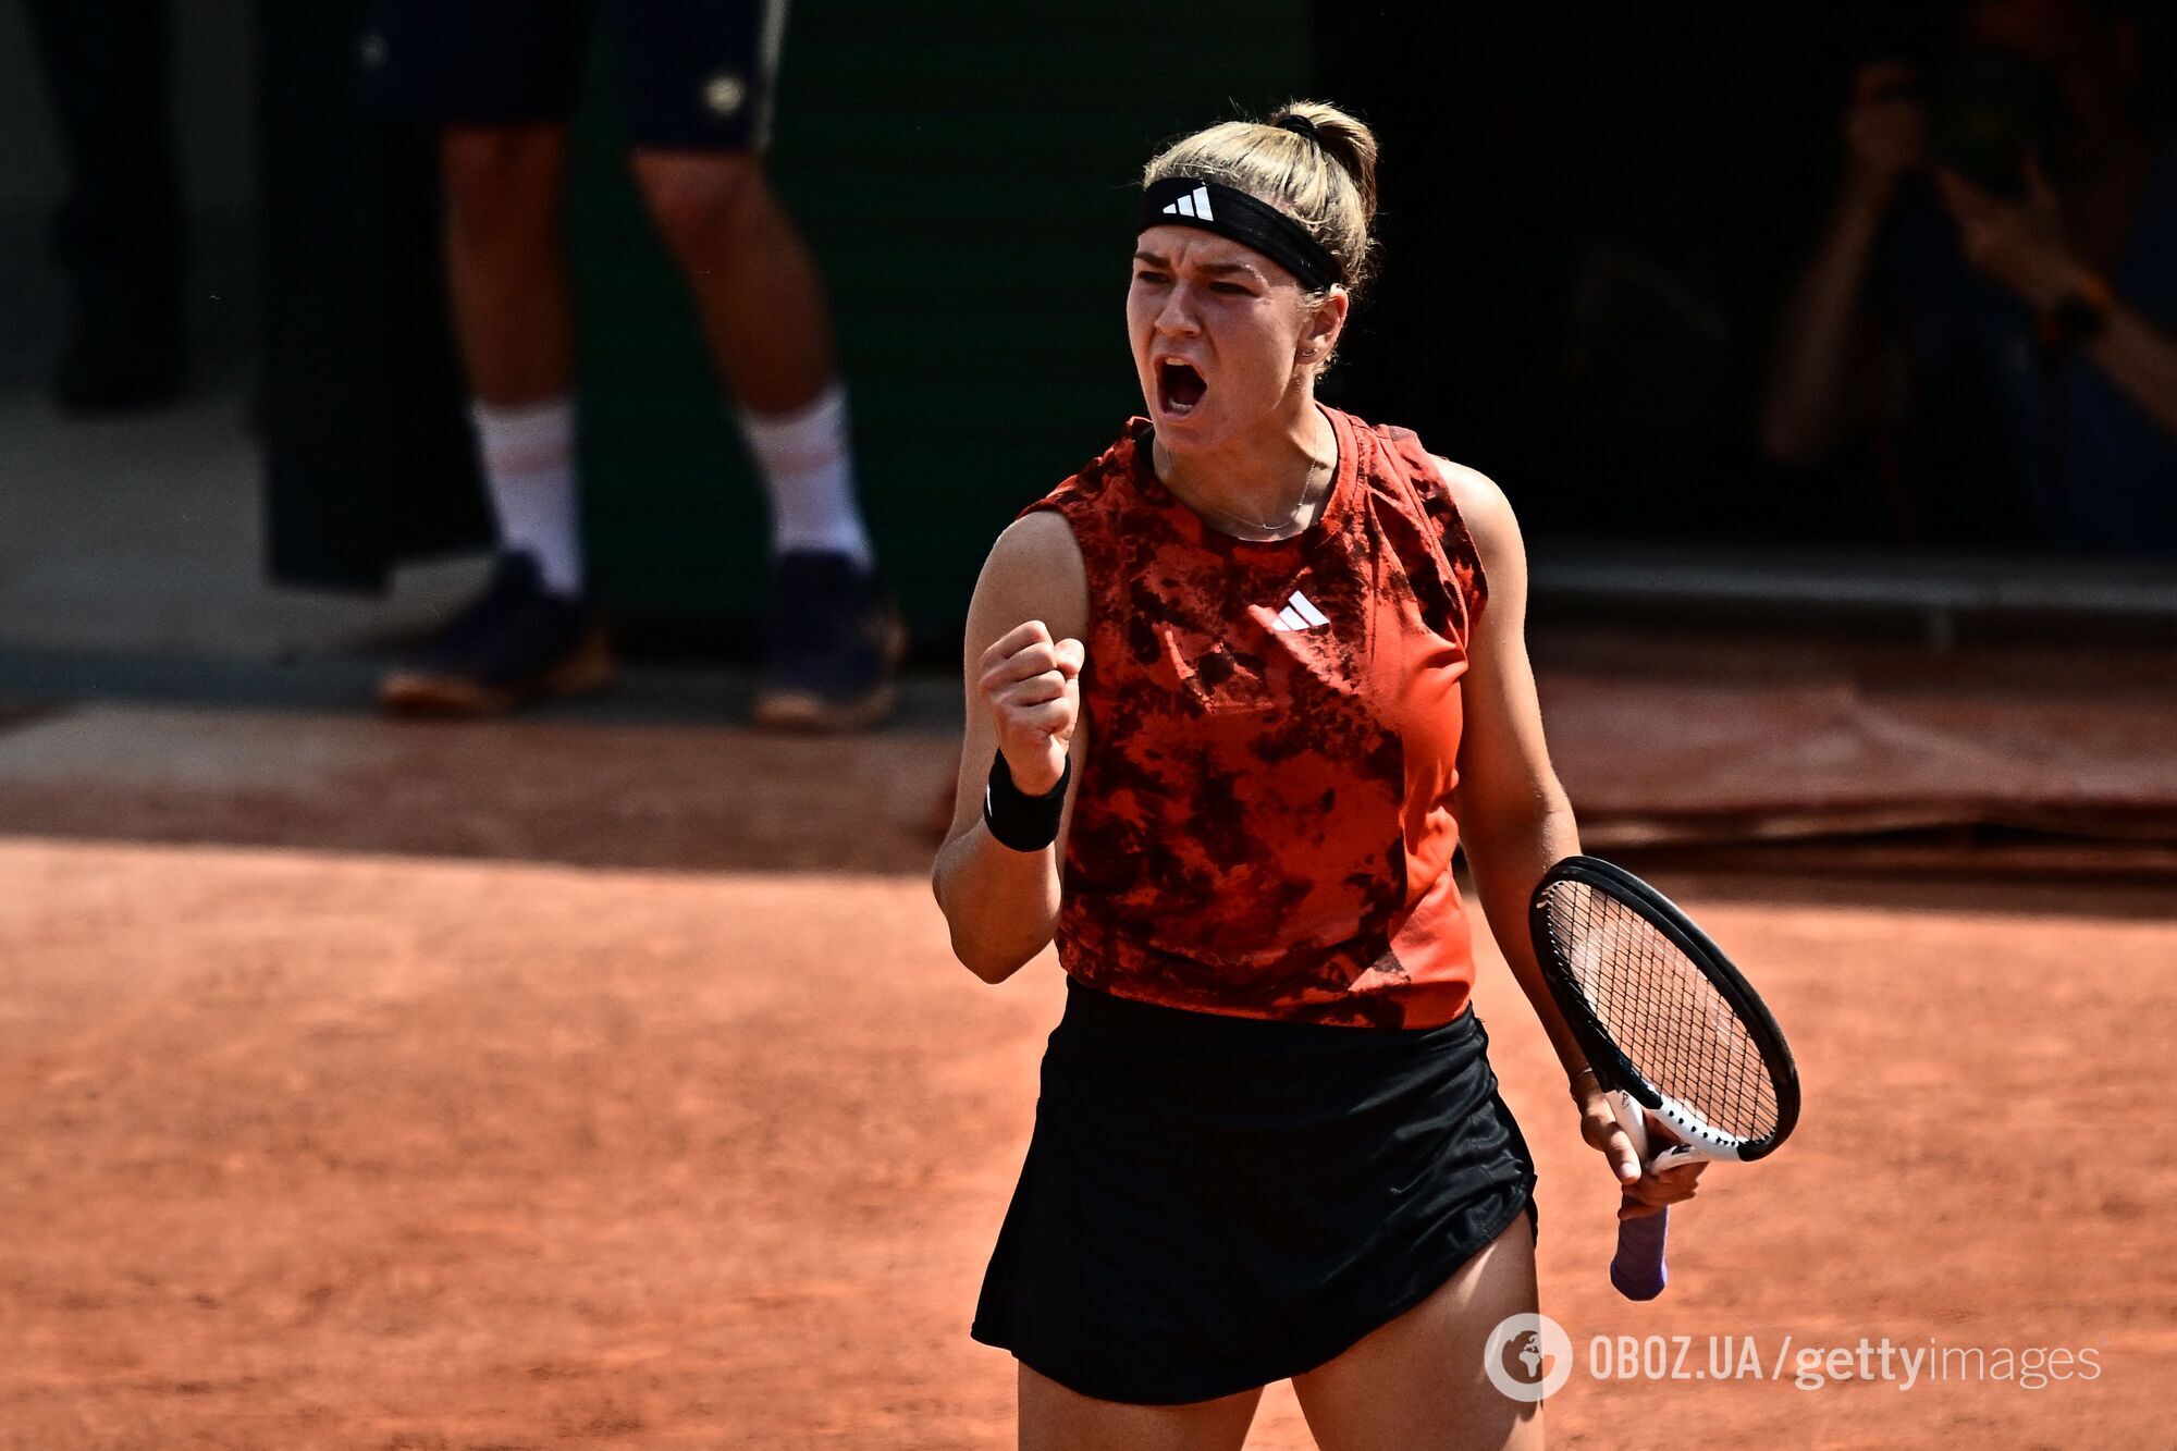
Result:
{"label": "black-and-white tennis racket held by the player", "polygon": [[[1567,856],[1535,887],[1535,959],[1641,1163],[1750,1163],[1798,1124],[1776,1020],[1692,917],[1624,867]],[[1650,1157],[1648,1120],[1668,1142]],[[1611,1283],[1652,1301],[1670,1211],[1618,1224]]]}

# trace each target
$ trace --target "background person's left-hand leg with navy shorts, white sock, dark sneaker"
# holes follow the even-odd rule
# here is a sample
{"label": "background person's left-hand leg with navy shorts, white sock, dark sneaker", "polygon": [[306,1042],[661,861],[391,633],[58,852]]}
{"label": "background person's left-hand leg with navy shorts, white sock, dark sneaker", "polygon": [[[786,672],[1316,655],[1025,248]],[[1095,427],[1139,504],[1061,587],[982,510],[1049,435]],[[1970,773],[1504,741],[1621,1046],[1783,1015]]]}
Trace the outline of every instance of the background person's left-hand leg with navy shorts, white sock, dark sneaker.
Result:
{"label": "background person's left-hand leg with navy shorts, white sock, dark sneaker", "polygon": [[446,283],[499,525],[490,588],[379,686],[388,708],[483,715],[601,686],[575,471],[566,115],[583,7],[381,0],[379,102],[440,126]]}

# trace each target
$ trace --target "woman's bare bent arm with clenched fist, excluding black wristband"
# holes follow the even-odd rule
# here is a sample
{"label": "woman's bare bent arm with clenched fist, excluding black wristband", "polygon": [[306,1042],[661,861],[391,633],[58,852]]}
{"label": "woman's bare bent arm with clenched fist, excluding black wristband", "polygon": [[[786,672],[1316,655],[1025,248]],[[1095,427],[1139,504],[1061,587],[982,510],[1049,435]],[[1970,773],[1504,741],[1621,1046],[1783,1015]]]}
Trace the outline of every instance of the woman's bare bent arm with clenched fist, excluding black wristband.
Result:
{"label": "woman's bare bent arm with clenched fist, excluding black wristband", "polygon": [[1047,510],[1017,519],[997,536],[967,610],[967,734],[951,828],[930,874],[954,956],[984,983],[1004,983],[1051,941],[1058,863],[1080,784],[1075,765],[1058,839],[1038,852],[1014,852],[982,824],[991,758],[1001,752],[1028,795],[1058,784],[1069,756],[1082,758],[1086,634],[1088,571],[1073,529]]}

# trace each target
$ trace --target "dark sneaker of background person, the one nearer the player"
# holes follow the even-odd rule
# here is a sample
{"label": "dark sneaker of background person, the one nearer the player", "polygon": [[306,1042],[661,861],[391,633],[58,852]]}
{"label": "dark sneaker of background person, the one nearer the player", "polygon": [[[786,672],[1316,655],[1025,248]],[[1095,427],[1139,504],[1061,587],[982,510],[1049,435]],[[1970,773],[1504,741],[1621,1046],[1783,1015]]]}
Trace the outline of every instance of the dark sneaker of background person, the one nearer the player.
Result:
{"label": "dark sneaker of background person, the one nearer the player", "polygon": [[873,569],[842,553],[779,556],[755,723],[856,730],[893,712],[908,630]]}

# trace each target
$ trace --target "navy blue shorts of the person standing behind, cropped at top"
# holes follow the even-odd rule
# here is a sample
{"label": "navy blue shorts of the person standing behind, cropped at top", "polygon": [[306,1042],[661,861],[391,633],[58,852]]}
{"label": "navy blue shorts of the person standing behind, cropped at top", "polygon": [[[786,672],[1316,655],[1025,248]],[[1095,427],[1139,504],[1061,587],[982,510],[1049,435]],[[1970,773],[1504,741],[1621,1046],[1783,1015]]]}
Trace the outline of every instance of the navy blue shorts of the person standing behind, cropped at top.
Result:
{"label": "navy blue shorts of the person standing behind, cropped at top", "polygon": [[372,100],[440,126],[564,122],[592,9],[627,135],[666,150],[762,150],[786,0],[377,0]]}

